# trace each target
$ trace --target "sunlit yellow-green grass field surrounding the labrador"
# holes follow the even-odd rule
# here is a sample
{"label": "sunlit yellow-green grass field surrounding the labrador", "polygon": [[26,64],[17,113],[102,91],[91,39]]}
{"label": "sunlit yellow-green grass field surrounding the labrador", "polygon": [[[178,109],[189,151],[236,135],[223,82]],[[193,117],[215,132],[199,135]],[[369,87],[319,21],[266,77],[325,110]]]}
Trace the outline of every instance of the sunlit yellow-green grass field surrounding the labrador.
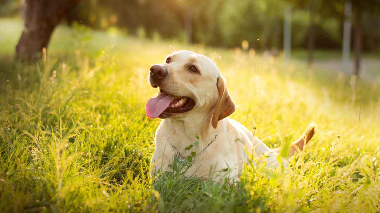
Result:
{"label": "sunlit yellow-green grass field surrounding the labrador", "polygon": [[[59,27],[46,61],[22,65],[22,22],[0,19],[0,212],[378,212],[380,87],[241,50]],[[233,119],[270,147],[318,134],[286,172],[246,166],[236,185],[149,177],[158,119],[149,67],[171,51],[213,58]]]}

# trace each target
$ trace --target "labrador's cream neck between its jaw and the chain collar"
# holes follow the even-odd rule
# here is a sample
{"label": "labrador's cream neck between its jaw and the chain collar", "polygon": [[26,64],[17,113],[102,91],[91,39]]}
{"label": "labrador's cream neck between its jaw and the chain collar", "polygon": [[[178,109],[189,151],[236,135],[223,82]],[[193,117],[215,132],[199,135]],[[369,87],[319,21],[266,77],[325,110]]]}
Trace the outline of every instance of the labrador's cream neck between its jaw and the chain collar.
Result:
{"label": "labrador's cream neck between its jaw and the chain collar", "polygon": [[204,146],[215,137],[219,129],[212,127],[211,114],[197,117],[188,116],[181,119],[165,119],[163,120],[163,124],[173,129],[174,134],[179,138],[185,137],[190,141],[196,141],[195,136],[199,136],[199,143],[202,143]]}

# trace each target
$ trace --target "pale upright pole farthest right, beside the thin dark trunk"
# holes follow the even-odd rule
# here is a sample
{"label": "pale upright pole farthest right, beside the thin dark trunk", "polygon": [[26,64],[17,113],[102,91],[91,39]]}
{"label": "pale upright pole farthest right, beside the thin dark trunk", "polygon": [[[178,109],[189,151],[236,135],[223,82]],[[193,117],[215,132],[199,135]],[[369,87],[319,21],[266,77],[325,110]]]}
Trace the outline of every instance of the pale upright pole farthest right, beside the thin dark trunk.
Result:
{"label": "pale upright pole farthest right, beside the thin dark trunk", "polygon": [[343,25],[343,47],[342,47],[342,61],[343,69],[347,69],[350,61],[350,44],[351,44],[351,2],[344,3],[344,25]]}

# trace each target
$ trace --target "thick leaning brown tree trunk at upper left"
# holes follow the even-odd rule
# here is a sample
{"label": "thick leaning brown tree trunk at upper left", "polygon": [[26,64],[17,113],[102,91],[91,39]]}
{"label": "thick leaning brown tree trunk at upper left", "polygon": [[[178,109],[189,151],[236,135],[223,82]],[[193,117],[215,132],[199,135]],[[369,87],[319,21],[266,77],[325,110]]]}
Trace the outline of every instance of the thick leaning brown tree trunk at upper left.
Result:
{"label": "thick leaning brown tree trunk at upper left", "polygon": [[41,57],[57,24],[80,0],[26,0],[25,29],[16,46],[22,61]]}

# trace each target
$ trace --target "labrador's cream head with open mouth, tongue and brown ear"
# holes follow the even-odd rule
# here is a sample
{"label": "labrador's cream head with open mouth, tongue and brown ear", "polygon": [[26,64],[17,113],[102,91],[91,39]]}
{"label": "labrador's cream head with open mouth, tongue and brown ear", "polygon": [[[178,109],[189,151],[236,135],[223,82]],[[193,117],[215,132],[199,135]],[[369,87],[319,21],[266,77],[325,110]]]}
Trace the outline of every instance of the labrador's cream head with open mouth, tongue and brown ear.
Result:
{"label": "labrador's cream head with open mouth, tongue and brown ear", "polygon": [[146,104],[150,118],[206,116],[212,110],[216,128],[219,120],[235,111],[218,67],[204,55],[187,50],[168,55],[163,64],[150,67],[149,83],[159,87],[158,96]]}

